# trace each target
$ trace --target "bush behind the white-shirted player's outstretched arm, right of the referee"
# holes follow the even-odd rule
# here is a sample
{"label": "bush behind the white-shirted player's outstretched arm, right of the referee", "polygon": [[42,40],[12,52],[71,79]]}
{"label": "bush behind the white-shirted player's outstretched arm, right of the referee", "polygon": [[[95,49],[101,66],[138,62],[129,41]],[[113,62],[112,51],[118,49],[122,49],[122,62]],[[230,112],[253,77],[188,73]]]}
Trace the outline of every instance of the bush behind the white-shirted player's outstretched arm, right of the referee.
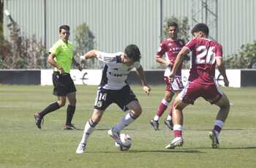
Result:
{"label": "bush behind the white-shirted player's outstretched arm, right of the referee", "polygon": [[[83,56],[89,50],[94,49],[94,34],[89,29],[86,23],[80,24],[75,28],[75,57],[79,58]],[[82,61],[83,68],[86,69],[97,69],[99,68],[99,61],[96,59],[89,59]]]}

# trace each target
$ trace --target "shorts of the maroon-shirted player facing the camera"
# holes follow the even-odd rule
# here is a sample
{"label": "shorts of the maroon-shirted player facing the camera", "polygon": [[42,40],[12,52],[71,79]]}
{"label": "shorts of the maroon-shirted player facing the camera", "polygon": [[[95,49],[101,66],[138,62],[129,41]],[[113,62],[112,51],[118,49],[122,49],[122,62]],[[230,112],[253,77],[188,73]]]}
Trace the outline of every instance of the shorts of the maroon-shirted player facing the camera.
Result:
{"label": "shorts of the maroon-shirted player facing the camera", "polygon": [[172,83],[170,83],[170,80],[168,79],[168,77],[164,77],[164,78],[165,78],[165,85],[166,85],[165,91],[176,92],[176,91],[181,91],[184,88],[182,84],[181,76],[175,76]]}

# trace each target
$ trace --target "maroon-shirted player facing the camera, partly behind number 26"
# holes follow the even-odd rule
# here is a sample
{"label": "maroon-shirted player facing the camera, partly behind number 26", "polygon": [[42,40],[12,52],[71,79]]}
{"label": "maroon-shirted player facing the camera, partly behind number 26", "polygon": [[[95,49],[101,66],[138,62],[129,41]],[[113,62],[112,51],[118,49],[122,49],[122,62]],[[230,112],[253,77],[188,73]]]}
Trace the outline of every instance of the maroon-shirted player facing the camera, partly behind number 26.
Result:
{"label": "maroon-shirted player facing the camera, partly behind number 26", "polygon": [[[165,64],[165,96],[162,99],[162,101],[159,103],[156,115],[154,118],[149,122],[151,126],[155,130],[158,130],[159,128],[159,118],[162,116],[162,114],[167,109],[168,104],[170,104],[171,100],[173,99],[173,96],[178,94],[183,88],[182,80],[181,80],[181,64],[178,66],[178,70],[175,75],[175,79],[170,82],[169,75],[170,70],[172,69],[173,63],[176,59],[176,56],[178,55],[178,52],[181,50],[181,48],[184,46],[184,43],[181,40],[177,39],[178,35],[178,24],[175,22],[168,23],[167,25],[167,36],[168,38],[163,40],[159,46],[156,61],[160,64]],[[162,58],[162,56],[165,54],[165,58]],[[165,125],[169,129],[173,129],[173,122],[172,122],[172,108],[170,108],[169,114],[167,115],[167,118],[165,119]]]}

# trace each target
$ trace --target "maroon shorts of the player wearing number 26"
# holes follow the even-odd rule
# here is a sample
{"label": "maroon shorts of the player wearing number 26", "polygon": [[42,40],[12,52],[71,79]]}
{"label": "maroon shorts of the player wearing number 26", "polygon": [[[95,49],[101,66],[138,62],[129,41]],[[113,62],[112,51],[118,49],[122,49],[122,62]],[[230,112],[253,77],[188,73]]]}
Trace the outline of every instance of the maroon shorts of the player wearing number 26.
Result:
{"label": "maroon shorts of the player wearing number 26", "polygon": [[182,102],[194,104],[198,97],[203,97],[211,104],[215,104],[222,98],[222,91],[217,84],[205,85],[200,83],[189,82],[187,86],[178,94]]}

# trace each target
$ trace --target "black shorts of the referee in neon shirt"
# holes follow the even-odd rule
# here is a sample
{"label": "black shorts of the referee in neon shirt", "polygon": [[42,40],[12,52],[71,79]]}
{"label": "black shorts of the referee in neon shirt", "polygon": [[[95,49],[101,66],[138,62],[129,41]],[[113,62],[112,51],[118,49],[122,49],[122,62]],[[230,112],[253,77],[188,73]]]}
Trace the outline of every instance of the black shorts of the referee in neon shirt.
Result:
{"label": "black shorts of the referee in neon shirt", "polygon": [[75,84],[69,74],[53,72],[53,94],[56,96],[67,96],[68,93],[77,91]]}

